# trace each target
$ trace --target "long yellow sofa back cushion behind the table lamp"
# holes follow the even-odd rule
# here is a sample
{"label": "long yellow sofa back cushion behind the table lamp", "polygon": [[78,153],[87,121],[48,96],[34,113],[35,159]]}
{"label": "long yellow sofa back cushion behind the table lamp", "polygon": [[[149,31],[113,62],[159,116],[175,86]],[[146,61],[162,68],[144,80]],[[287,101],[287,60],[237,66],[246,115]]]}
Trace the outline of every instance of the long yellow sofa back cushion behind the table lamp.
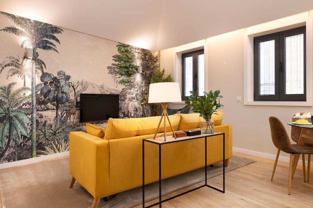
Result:
{"label": "long yellow sofa back cushion behind the table lamp", "polygon": [[[177,130],[180,121],[180,115],[169,116],[174,131]],[[105,139],[113,140],[119,138],[141,136],[147,134],[154,134],[156,132],[157,125],[161,116],[146,117],[146,118],[135,118],[135,119],[112,119],[108,121],[106,127]],[[170,124],[167,120],[166,130],[171,131]],[[164,120],[160,124],[158,133],[164,132]]]}

